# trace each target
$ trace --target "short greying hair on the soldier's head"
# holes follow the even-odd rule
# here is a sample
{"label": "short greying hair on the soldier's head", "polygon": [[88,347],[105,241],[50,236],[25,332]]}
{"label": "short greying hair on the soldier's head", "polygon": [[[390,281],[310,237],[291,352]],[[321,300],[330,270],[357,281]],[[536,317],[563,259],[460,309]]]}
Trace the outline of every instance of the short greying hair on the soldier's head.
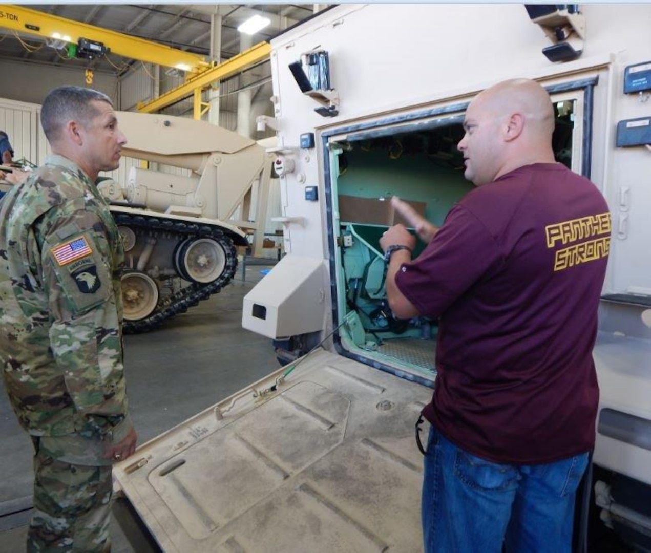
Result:
{"label": "short greying hair on the soldier's head", "polygon": [[75,120],[87,124],[99,112],[92,101],[105,101],[111,107],[113,102],[104,92],[82,87],[59,87],[50,90],[41,107],[41,125],[49,142],[59,138],[62,126]]}

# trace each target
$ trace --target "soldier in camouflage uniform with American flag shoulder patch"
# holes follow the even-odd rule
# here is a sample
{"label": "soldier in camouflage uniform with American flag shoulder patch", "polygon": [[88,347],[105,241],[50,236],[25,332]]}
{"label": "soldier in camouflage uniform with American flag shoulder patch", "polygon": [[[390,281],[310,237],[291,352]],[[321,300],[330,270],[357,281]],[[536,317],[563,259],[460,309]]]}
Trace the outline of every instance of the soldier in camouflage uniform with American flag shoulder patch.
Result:
{"label": "soldier in camouflage uniform with American flag shoulder patch", "polygon": [[94,182],[126,138],[107,96],[61,87],[53,155],[0,202],[0,358],[34,442],[29,551],[108,551],[111,464],[135,450],[122,363],[123,250]]}

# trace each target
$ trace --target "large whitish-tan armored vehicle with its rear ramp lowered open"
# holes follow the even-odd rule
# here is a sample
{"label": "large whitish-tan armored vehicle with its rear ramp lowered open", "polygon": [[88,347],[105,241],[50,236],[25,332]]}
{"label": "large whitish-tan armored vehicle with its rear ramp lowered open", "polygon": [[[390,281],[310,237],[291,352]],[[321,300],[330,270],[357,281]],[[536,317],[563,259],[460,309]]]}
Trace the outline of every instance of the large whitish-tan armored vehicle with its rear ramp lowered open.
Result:
{"label": "large whitish-tan armored vehicle with its rear ramp lowered open", "polygon": [[290,364],[117,467],[165,550],[422,550],[413,425],[437,325],[393,317],[378,238],[391,196],[440,224],[470,189],[464,111],[512,77],[546,87],[557,160],[609,202],[591,510],[649,548],[651,6],[528,8],[339,5],[272,40],[286,256],[243,326]]}

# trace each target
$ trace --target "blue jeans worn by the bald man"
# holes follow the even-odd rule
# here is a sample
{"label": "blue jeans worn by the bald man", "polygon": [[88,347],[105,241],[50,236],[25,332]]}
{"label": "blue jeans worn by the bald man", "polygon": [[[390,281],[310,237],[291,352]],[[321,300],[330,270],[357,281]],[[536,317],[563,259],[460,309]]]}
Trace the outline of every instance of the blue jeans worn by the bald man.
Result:
{"label": "blue jeans worn by the bald man", "polygon": [[426,553],[564,553],[588,453],[544,465],[501,465],[458,448],[434,426],[424,459]]}

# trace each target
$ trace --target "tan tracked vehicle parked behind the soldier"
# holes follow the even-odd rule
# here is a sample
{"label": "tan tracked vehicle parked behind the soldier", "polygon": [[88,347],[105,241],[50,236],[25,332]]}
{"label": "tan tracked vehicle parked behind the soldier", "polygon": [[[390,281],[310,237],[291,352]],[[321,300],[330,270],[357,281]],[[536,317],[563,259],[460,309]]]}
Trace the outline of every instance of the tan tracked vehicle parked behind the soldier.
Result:
{"label": "tan tracked vehicle parked behind the soldier", "polygon": [[[132,167],[122,187],[100,183],[124,239],[124,329],[141,332],[229,284],[237,246],[260,250],[272,156],[206,122],[130,112],[118,120],[129,141],[124,155],[189,173]],[[248,221],[255,190],[255,219]],[[233,219],[238,213],[242,221]]]}

